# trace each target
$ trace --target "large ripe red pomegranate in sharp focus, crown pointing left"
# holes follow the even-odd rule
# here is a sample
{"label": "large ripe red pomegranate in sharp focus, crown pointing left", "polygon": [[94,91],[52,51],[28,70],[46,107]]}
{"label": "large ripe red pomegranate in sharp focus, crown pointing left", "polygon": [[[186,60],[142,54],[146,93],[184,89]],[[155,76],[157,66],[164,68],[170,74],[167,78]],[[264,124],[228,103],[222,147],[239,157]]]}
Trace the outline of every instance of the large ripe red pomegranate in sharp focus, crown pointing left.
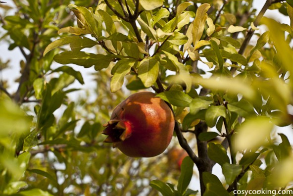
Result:
{"label": "large ripe red pomegranate in sharp focus, crown pointing left", "polygon": [[104,125],[105,143],[131,157],[152,157],[170,144],[175,120],[163,99],[151,92],[135,93],[119,103]]}

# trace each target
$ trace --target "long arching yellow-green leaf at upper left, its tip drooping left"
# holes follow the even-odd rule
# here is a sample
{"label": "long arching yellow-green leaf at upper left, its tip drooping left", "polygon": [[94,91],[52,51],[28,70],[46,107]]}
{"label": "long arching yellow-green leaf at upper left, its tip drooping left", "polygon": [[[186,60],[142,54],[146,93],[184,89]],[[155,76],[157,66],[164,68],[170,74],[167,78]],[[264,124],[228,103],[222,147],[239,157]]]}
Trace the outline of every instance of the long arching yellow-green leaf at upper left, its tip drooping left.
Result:
{"label": "long arching yellow-green leaf at upper left, its tip drooping left", "polygon": [[81,50],[84,48],[92,48],[98,43],[84,36],[68,36],[50,43],[46,47],[43,55],[45,56],[50,50],[63,46],[65,44],[70,44],[70,48],[72,50]]}

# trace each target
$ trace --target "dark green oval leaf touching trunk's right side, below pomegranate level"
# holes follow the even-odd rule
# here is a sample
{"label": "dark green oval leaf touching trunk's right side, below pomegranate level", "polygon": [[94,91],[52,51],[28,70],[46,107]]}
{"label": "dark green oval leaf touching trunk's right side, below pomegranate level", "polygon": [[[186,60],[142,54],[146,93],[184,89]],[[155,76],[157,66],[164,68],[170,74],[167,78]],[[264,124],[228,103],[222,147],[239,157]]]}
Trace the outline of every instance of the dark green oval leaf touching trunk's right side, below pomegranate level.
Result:
{"label": "dark green oval leaf touching trunk's right side, below pomegranate level", "polygon": [[211,160],[219,163],[221,166],[224,163],[230,163],[227,151],[222,145],[209,143],[207,154]]}

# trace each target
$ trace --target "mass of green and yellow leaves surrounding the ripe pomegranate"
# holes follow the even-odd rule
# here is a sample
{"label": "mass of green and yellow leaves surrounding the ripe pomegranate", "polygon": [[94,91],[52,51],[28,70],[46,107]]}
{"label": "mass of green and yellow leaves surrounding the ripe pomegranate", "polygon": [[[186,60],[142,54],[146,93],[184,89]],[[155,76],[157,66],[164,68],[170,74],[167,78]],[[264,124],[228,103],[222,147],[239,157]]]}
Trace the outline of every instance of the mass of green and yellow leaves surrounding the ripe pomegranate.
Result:
{"label": "mass of green and yellow leaves surrounding the ripe pomegranate", "polygon": [[[17,10],[0,17],[1,40],[23,55],[16,92],[0,80],[1,194],[195,195],[193,163],[203,196],[291,188],[290,139],[275,129],[293,122],[292,0],[266,0],[257,15],[253,0],[70,3],[0,5]],[[263,17],[267,9],[291,25]],[[73,101],[72,84],[85,83],[76,65],[95,69],[97,89]],[[179,178],[165,154],[133,159],[102,143],[115,105],[146,89],[177,119],[189,154]]]}

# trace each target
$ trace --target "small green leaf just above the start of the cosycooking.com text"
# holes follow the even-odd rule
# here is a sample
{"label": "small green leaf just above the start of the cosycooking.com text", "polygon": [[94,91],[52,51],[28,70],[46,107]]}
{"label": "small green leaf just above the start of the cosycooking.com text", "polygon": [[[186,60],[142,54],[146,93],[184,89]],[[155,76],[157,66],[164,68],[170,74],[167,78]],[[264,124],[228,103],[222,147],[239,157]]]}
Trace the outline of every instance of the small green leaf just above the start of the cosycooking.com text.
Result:
{"label": "small green leaf just above the start of the cosycooking.com text", "polygon": [[222,171],[225,176],[226,182],[230,185],[234,182],[236,177],[241,173],[242,166],[241,165],[235,165],[235,164],[229,164],[224,163],[222,165]]}

